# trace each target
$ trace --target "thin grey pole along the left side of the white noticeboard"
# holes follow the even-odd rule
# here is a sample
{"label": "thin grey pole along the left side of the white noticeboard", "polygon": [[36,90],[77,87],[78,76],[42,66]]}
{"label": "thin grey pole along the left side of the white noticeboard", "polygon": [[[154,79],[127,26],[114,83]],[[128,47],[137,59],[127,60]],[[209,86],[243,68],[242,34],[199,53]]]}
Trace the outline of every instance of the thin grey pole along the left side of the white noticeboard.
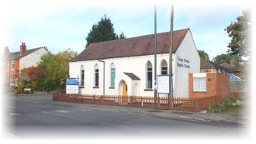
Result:
{"label": "thin grey pole along the left side of the white noticeboard", "polygon": [[154,4],[154,103],[157,103],[157,5]]}

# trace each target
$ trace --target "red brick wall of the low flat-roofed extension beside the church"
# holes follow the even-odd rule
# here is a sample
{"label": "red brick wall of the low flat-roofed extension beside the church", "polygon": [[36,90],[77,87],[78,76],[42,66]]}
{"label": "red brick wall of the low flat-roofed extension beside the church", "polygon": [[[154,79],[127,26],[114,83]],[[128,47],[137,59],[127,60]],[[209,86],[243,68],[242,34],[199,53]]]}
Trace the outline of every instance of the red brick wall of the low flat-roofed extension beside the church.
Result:
{"label": "red brick wall of the low flat-roofed extension beside the church", "polygon": [[229,75],[219,73],[206,73],[206,92],[194,92],[193,74],[189,74],[189,98],[203,98],[216,95],[226,97],[229,94]]}

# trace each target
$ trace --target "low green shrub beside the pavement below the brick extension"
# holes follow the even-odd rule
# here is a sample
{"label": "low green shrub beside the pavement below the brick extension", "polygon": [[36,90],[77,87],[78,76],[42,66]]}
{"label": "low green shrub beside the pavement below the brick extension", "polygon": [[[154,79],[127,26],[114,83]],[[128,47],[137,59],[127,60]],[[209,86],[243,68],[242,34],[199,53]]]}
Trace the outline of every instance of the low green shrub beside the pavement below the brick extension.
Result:
{"label": "low green shrub beside the pavement below the brick extension", "polygon": [[223,112],[230,110],[232,108],[237,108],[240,104],[237,102],[236,98],[230,97],[228,99],[223,99],[222,102],[214,104],[214,105],[209,105],[207,107],[207,111],[209,112]]}

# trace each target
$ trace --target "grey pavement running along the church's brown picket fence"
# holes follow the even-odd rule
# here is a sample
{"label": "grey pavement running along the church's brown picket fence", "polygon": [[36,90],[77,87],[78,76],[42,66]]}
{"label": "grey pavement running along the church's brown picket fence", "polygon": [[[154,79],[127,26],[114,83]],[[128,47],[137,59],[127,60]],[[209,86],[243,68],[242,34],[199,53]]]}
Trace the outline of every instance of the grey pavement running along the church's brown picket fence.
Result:
{"label": "grey pavement running along the church's brown picket fence", "polygon": [[250,113],[249,108],[244,108],[244,111],[238,114],[223,114],[223,113],[209,113],[207,111],[191,112],[191,111],[173,111],[173,110],[158,110],[150,108],[134,108],[134,107],[122,107],[122,106],[110,106],[110,105],[88,105],[63,101],[51,101],[52,94],[19,94],[19,96],[36,96],[44,97],[46,100],[40,99],[44,103],[47,102],[52,105],[70,105],[78,107],[86,107],[89,109],[95,109],[100,111],[116,111],[116,112],[128,112],[138,115],[151,115],[164,118],[173,118],[189,122],[201,122],[207,124],[227,124],[227,125],[250,125]]}

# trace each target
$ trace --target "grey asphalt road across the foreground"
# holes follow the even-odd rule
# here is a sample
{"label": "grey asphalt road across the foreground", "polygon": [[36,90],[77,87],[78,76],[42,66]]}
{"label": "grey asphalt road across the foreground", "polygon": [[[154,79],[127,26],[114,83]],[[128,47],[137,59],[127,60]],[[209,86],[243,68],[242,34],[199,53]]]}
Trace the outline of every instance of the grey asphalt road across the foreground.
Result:
{"label": "grey asphalt road across the foreground", "polygon": [[209,125],[132,112],[109,111],[98,105],[52,101],[50,95],[5,95],[5,135],[22,138],[237,138],[244,128]]}

